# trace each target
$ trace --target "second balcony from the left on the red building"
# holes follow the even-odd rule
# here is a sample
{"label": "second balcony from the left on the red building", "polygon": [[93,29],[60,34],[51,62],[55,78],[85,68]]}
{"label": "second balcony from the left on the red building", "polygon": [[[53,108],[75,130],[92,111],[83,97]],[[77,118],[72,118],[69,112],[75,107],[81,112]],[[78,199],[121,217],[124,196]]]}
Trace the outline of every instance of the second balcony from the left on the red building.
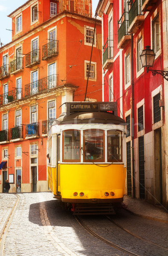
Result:
{"label": "second balcony from the left on the red building", "polygon": [[118,21],[118,48],[124,49],[130,39],[131,35],[128,35],[128,12],[124,12]]}

